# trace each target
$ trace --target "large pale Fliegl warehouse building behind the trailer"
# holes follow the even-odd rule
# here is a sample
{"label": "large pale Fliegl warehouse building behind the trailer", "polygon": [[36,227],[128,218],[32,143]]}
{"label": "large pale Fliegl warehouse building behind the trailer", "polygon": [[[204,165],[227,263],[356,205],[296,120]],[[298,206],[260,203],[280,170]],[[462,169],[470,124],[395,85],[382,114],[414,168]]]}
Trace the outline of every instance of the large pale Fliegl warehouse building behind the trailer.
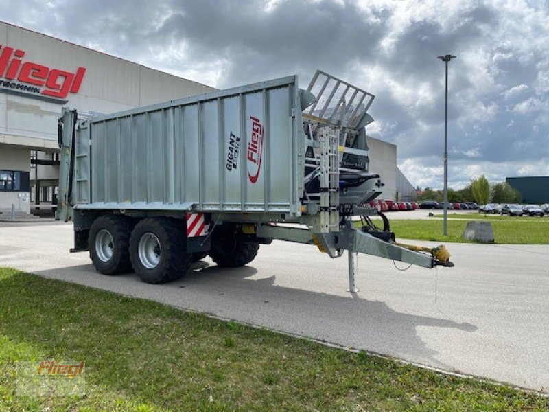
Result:
{"label": "large pale Fliegl warehouse building behind the trailer", "polygon": [[[12,205],[26,213],[55,209],[62,106],[114,113],[209,91],[215,89],[0,22],[0,213]],[[368,144],[370,170],[385,183],[380,197],[406,199],[397,146],[370,137]]]}

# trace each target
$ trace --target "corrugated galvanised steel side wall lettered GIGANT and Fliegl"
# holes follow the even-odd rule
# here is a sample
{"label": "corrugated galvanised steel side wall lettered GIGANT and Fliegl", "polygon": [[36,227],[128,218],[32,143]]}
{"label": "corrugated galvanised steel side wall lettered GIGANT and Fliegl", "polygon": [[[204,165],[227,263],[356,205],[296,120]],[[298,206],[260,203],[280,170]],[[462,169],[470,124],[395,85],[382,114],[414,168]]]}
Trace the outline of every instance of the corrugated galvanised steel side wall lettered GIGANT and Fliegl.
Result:
{"label": "corrugated galvanised steel side wall lettered GIGANT and Fliegl", "polygon": [[299,214],[305,146],[296,82],[291,76],[90,119],[78,138],[91,140],[91,201],[80,198],[78,208],[161,203]]}

